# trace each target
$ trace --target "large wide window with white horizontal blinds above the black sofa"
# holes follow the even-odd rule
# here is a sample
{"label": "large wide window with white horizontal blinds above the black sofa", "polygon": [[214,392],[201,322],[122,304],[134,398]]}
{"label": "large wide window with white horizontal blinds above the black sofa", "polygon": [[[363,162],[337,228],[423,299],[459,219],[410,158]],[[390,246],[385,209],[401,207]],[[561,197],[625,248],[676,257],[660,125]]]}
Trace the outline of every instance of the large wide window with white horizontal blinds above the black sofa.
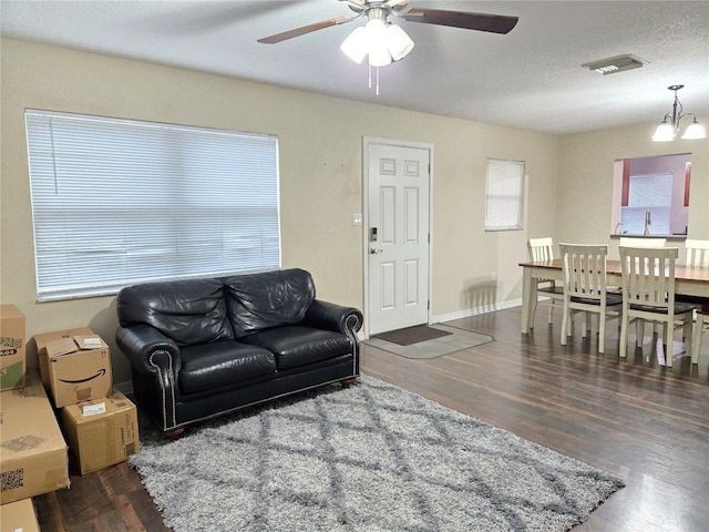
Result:
{"label": "large wide window with white horizontal blinds above the black sofa", "polygon": [[39,300],[280,267],[278,140],[25,112]]}

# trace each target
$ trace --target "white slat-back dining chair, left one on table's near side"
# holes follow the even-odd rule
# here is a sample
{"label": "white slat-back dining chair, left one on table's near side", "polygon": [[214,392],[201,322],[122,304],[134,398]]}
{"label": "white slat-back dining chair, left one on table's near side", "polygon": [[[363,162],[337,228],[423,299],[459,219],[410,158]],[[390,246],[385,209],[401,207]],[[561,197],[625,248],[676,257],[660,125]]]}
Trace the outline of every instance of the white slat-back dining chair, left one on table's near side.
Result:
{"label": "white slat-back dining chair, left one on table's near side", "polygon": [[606,289],[608,246],[559,244],[558,247],[564,276],[562,346],[572,336],[573,313],[583,311],[587,317],[586,329],[590,314],[598,315],[598,352],[604,352],[606,320],[619,317],[623,307],[623,297]]}

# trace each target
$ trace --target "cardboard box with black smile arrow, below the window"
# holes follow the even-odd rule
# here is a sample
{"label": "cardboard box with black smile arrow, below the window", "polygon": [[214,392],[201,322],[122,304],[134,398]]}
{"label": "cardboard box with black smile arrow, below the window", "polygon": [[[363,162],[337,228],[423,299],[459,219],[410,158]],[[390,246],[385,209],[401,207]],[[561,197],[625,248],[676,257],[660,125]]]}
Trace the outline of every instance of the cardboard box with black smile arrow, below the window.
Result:
{"label": "cardboard box with black smile arrow, below the window", "polygon": [[[95,340],[82,349],[86,337]],[[76,340],[79,338],[79,342]],[[56,408],[109,397],[113,391],[109,346],[96,335],[59,338],[45,347],[50,397]]]}

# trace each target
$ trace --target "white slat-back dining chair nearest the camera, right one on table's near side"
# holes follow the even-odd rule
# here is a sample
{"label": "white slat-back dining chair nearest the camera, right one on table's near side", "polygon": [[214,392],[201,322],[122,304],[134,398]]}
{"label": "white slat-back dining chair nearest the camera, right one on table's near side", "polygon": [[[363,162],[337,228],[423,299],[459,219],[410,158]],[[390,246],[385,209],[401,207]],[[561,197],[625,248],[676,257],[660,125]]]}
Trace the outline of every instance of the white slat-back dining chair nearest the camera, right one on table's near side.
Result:
{"label": "white slat-back dining chair nearest the camera, right one on table's near side", "polygon": [[680,321],[687,354],[691,354],[695,305],[675,300],[676,247],[620,247],[623,313],[620,318],[621,358],[628,348],[628,325],[636,320],[636,346],[641,347],[645,321],[662,324],[665,365],[672,366],[675,323]]}

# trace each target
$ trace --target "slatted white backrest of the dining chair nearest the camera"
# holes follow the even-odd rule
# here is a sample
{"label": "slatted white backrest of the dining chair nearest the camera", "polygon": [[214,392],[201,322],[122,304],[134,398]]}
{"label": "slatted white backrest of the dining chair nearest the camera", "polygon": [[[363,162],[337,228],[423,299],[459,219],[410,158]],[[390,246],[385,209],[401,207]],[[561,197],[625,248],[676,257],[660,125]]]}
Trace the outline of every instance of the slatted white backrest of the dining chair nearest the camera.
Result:
{"label": "slatted white backrest of the dining chair nearest the camera", "polygon": [[675,308],[677,247],[620,247],[623,303]]}

